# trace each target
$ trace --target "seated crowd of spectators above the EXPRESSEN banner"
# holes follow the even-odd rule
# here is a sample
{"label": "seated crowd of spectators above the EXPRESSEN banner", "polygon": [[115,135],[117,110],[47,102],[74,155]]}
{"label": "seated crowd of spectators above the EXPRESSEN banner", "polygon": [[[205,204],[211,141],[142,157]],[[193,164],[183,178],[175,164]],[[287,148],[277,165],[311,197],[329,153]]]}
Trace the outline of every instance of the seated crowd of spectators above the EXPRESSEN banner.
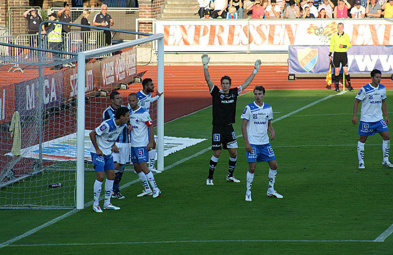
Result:
{"label": "seated crowd of spectators above the EXPRESSEN banner", "polygon": [[393,0],[197,0],[200,19],[393,18]]}

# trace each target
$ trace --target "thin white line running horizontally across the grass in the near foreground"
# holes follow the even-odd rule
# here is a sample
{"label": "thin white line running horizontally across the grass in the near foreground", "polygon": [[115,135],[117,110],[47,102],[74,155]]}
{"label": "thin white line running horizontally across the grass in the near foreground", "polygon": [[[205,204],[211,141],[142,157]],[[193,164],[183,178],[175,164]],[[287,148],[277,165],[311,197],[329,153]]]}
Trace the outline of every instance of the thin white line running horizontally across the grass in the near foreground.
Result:
{"label": "thin white line running horizontally across the grass in the near foreground", "polygon": [[12,244],[9,247],[34,247],[34,246],[84,246],[84,245],[116,245],[116,244],[168,244],[168,243],[365,243],[374,240],[183,240],[183,241],[141,241],[141,242],[113,242],[113,243],[58,243],[58,244]]}

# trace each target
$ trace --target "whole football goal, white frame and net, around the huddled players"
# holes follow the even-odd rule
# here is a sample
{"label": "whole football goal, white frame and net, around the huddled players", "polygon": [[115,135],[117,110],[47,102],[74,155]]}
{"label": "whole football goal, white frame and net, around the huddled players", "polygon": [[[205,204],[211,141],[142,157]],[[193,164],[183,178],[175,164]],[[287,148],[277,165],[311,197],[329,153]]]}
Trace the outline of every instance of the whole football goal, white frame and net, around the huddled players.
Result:
{"label": "whole football goal, white frame and net, around the huddled players", "polygon": [[[102,31],[92,33],[97,40]],[[127,105],[145,77],[164,91],[161,34],[107,47],[73,36],[63,37],[67,51],[45,37],[43,50],[0,38],[0,208],[83,208],[84,174],[94,171],[88,134],[102,122],[109,94],[118,91]],[[163,100],[150,110],[162,140],[159,169]]]}

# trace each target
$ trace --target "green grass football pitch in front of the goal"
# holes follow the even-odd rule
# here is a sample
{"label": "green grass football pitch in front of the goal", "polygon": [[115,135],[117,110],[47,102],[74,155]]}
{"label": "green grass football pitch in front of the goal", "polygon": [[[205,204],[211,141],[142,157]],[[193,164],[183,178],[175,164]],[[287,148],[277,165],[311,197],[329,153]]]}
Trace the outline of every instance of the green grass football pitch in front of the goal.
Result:
{"label": "green grass football pitch in front of the goal", "polygon": [[[383,81],[382,81],[383,83]],[[393,121],[393,90],[387,91]],[[238,161],[225,180],[223,151],[207,186],[211,157],[211,107],[165,125],[165,135],[208,140],[165,157],[155,175],[161,197],[137,198],[137,175],[126,172],[112,199],[118,211],[91,209],[94,172],[85,174],[84,210],[0,210],[0,254],[393,254],[393,169],[382,166],[382,138],[365,144],[358,169],[358,126],[351,123],[356,93],[268,90],[279,165],[266,197],[268,164],[258,163],[253,201],[245,201],[246,153],[240,115],[252,92],[238,98]],[[360,118],[360,109],[358,119]],[[392,133],[393,124],[389,125]],[[392,153],[391,153],[392,154]],[[390,156],[393,160],[393,155]],[[100,203],[103,204],[103,201]]]}

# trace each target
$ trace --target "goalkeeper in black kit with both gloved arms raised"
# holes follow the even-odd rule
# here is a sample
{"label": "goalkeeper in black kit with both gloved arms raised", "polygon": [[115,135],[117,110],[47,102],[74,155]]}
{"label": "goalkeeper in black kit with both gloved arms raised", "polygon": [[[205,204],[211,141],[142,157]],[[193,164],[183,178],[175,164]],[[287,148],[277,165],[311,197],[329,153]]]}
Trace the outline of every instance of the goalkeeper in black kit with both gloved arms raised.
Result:
{"label": "goalkeeper in black kit with both gloved arms raised", "polygon": [[231,182],[240,182],[240,180],[233,176],[233,171],[235,170],[237,160],[237,141],[232,123],[235,123],[237,97],[253,81],[253,78],[259,71],[261,61],[259,59],[255,61],[253,73],[243,82],[242,85],[236,88],[230,88],[232,85],[230,77],[222,77],[221,89],[215,86],[213,81],[210,79],[210,74],[208,71],[209,61],[210,57],[207,54],[203,54],[202,64],[205,80],[213,100],[213,155],[210,159],[209,176],[206,179],[206,185],[214,185],[213,174],[222,149],[228,150],[229,153],[229,167],[226,180]]}

